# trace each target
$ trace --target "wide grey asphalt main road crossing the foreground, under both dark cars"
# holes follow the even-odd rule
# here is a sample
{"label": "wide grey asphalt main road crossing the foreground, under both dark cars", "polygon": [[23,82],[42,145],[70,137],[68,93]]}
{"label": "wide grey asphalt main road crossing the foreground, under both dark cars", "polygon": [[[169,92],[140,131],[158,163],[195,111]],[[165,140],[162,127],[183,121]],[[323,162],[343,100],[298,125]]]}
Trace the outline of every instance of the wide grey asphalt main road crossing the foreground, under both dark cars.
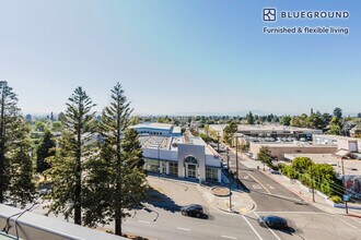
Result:
{"label": "wide grey asphalt main road crossing the foreground, under both dark cars", "polygon": [[[261,175],[261,172],[259,172],[259,175]],[[255,176],[255,178],[259,176]],[[160,197],[153,197],[149,203],[144,204],[149,211],[140,209],[137,211],[133,216],[127,217],[123,224],[124,232],[147,237],[148,239],[170,240],[361,239],[361,219],[335,216],[319,212],[316,213],[313,211],[307,212],[306,207],[310,206],[301,206],[304,208],[290,211],[290,206],[283,206],[284,204],[289,204],[287,201],[275,197],[268,199],[268,202],[277,202],[278,200],[280,208],[267,208],[267,201],[260,201],[260,197],[265,197],[265,195],[260,193],[257,193],[259,194],[257,199],[259,206],[256,212],[247,215],[229,214],[210,206],[194,183],[182,183],[182,181],[162,178],[149,178],[149,182],[154,187],[154,191],[155,193],[158,192]],[[277,191],[276,189],[270,189],[270,191],[272,190],[275,190],[275,192]],[[259,192],[261,192],[261,190]],[[251,194],[253,193],[254,191],[252,191]],[[206,213],[209,215],[209,219],[183,216],[179,213],[180,206],[190,203],[203,205],[206,207]],[[273,203],[269,205],[273,205]],[[260,208],[260,206],[264,208]],[[46,211],[38,206],[35,207],[33,212],[44,214]],[[260,227],[257,223],[258,216],[270,214],[284,217],[289,221],[290,228],[280,231]],[[63,220],[61,215],[56,217],[51,214],[49,217]],[[113,224],[102,228],[114,231]]]}

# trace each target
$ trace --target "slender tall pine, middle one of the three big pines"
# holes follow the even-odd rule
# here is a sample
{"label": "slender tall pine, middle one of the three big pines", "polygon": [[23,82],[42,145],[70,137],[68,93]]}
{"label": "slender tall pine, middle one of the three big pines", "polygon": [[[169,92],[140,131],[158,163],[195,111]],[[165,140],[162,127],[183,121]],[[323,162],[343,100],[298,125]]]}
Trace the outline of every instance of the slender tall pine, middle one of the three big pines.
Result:
{"label": "slender tall pine, middle one of the three big pines", "polygon": [[49,212],[62,213],[74,223],[82,223],[83,179],[86,160],[93,155],[95,133],[95,106],[82,87],[78,87],[67,103],[67,110],[61,118],[63,125],[59,147],[50,157],[51,168],[46,172],[50,177],[53,192]]}

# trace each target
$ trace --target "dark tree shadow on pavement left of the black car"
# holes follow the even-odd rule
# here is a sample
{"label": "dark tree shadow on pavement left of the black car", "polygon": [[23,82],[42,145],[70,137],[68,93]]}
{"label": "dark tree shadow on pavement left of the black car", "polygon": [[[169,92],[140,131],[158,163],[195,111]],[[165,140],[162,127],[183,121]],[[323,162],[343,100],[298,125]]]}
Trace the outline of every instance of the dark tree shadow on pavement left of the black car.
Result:
{"label": "dark tree shadow on pavement left of the black car", "polygon": [[147,203],[154,207],[170,211],[172,213],[180,211],[182,206],[176,204],[171,197],[158,191],[156,189],[149,188],[147,195],[148,195]]}

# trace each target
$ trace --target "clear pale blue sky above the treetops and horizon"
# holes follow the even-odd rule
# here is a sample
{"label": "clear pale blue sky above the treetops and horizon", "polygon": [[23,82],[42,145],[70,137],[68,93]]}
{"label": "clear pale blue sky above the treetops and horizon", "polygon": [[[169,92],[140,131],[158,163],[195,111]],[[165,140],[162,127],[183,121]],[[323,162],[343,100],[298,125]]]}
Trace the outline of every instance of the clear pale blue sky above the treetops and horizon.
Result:
{"label": "clear pale blue sky above the treetops and horizon", "polygon": [[[347,10],[338,21],[261,21],[261,9]],[[361,111],[361,2],[0,0],[0,80],[25,112],[61,111],[81,85],[102,109],[119,81],[136,112]],[[271,25],[343,35],[265,35]]]}

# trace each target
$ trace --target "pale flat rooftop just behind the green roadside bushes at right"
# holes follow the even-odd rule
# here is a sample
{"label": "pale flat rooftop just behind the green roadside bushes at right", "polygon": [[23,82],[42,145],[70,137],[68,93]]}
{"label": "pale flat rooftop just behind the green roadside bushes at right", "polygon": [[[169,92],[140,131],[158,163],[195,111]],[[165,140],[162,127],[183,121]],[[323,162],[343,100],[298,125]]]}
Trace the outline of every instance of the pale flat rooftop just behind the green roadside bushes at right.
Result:
{"label": "pale flat rooftop just behind the green roadside bushes at right", "polygon": [[[310,157],[315,164],[329,164],[335,171],[342,175],[341,158],[333,154],[284,154],[284,157],[293,160],[295,157]],[[361,160],[345,159],[345,175],[361,176]]]}

